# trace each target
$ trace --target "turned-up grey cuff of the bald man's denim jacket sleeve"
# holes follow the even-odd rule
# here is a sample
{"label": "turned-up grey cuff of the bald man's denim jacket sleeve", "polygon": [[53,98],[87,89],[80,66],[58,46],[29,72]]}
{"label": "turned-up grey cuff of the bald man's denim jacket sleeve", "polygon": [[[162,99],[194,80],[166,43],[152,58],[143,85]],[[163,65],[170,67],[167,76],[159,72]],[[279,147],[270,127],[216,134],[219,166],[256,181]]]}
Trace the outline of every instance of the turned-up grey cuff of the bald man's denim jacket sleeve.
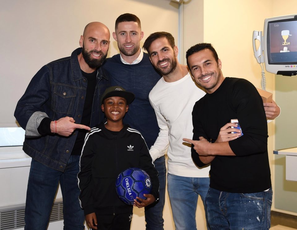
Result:
{"label": "turned-up grey cuff of the bald man's denim jacket sleeve", "polygon": [[26,125],[25,137],[41,136],[37,130],[43,118],[48,117],[46,113],[37,111],[32,114]]}

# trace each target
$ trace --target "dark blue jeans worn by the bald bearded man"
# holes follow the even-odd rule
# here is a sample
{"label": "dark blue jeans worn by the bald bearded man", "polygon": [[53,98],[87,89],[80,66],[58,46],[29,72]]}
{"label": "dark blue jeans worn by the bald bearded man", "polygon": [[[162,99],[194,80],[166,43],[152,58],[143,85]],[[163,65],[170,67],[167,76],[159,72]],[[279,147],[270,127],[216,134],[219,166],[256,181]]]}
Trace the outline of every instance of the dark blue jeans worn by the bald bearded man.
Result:
{"label": "dark blue jeans worn by the bald bearded man", "polygon": [[25,230],[47,228],[59,181],[63,196],[63,229],[84,229],[84,211],[78,200],[79,160],[79,155],[70,156],[65,171],[60,172],[32,159],[25,208]]}

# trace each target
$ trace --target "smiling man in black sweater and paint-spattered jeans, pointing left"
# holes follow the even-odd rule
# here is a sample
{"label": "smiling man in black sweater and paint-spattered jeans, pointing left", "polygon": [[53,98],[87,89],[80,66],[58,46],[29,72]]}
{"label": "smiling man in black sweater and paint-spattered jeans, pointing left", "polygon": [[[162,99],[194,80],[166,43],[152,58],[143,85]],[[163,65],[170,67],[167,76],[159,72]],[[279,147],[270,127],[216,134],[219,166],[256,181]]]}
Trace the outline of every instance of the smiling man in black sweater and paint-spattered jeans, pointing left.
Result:
{"label": "smiling man in black sweater and paint-spattered jeans, pointing left", "polygon": [[[263,101],[252,83],[224,78],[211,44],[186,54],[192,76],[207,94],[193,112],[192,158],[211,163],[206,197],[211,229],[269,229],[272,189]],[[231,119],[238,119],[243,135]],[[231,133],[233,132],[233,133]]]}

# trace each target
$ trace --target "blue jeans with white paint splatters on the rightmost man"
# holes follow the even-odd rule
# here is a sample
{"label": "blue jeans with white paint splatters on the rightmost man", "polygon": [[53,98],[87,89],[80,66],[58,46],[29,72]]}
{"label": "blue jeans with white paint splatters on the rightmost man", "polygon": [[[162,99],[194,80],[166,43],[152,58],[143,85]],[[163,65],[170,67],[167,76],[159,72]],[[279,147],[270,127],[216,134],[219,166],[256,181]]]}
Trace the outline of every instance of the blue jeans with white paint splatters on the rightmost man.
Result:
{"label": "blue jeans with white paint splatters on the rightmost man", "polygon": [[222,192],[210,188],[205,202],[212,230],[270,228],[271,188],[266,192],[244,194]]}

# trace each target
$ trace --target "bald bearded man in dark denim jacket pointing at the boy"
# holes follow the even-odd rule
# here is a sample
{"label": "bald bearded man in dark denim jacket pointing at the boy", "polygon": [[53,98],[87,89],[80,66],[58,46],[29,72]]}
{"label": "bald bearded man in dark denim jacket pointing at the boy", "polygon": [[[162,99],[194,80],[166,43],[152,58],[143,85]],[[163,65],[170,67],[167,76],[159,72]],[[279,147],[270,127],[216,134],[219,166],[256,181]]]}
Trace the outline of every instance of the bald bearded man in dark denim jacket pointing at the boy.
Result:
{"label": "bald bearded man in dark denim jacket pointing at the boy", "polygon": [[109,43],[108,28],[89,23],[80,36],[81,48],[43,66],[16,106],[15,118],[25,130],[23,150],[32,157],[25,230],[47,228],[59,182],[64,230],[84,229],[77,173],[84,136],[104,116],[100,95],[109,83],[99,67]]}

